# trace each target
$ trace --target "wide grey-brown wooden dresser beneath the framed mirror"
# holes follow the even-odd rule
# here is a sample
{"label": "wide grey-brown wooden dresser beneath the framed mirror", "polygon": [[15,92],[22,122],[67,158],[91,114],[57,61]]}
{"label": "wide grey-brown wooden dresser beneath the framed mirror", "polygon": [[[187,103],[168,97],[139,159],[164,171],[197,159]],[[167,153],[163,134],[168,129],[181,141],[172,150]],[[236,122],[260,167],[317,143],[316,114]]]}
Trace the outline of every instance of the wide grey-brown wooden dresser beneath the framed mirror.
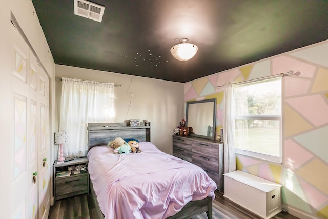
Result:
{"label": "wide grey-brown wooden dresser beneath the framed mirror", "polygon": [[201,167],[224,193],[223,142],[173,135],[173,155]]}

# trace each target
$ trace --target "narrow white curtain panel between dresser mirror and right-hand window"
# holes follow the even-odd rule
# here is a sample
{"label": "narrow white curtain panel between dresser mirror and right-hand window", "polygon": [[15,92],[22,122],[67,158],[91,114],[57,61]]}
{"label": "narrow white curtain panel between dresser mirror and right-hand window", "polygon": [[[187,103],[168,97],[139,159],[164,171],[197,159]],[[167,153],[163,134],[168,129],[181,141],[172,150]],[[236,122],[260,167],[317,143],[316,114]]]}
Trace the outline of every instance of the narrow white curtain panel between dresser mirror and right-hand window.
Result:
{"label": "narrow white curtain panel between dresser mirror and right-hand window", "polygon": [[223,98],[224,173],[236,170],[234,134],[234,86],[233,84],[227,83],[224,85]]}

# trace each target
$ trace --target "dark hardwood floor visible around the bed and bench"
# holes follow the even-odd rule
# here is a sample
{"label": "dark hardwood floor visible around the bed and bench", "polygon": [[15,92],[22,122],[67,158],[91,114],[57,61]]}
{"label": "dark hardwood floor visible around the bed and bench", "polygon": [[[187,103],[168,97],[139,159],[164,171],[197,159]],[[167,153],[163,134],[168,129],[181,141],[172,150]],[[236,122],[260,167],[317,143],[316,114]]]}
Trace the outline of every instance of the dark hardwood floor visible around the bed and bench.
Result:
{"label": "dark hardwood floor visible around the bed and bench", "polygon": [[[234,202],[223,197],[221,193],[215,191],[213,207],[229,216],[231,219],[261,219],[261,217],[249,212],[248,210],[236,205]],[[50,207],[49,219],[70,219],[84,218],[97,219],[96,208],[92,201],[91,194],[77,195],[74,197],[58,200]],[[274,219],[296,219],[288,213],[280,212]]]}

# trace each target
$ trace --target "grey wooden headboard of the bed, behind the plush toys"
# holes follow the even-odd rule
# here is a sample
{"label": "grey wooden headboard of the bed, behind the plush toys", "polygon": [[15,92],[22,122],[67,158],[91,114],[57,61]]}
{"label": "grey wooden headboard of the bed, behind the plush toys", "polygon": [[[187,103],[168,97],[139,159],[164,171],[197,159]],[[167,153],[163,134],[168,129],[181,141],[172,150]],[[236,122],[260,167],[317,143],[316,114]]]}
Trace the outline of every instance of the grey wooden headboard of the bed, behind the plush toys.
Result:
{"label": "grey wooden headboard of the bed, behind the plush toys", "polygon": [[88,147],[107,145],[116,137],[150,142],[150,126],[127,126],[127,123],[88,123]]}

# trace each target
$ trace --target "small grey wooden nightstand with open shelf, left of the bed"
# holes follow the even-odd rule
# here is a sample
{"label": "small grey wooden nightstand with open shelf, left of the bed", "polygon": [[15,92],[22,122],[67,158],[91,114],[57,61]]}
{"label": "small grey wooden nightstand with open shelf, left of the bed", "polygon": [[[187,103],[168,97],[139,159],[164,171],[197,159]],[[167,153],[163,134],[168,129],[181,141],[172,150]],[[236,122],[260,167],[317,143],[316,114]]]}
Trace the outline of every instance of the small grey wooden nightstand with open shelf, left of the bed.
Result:
{"label": "small grey wooden nightstand with open shelf, left of the bed", "polygon": [[[68,169],[78,165],[88,166],[88,158],[74,158],[72,161],[60,163],[55,161],[53,164],[53,194],[54,200],[67,198],[74,195],[89,193],[89,173],[85,171],[69,171]],[[58,164],[59,163],[59,164]]]}

